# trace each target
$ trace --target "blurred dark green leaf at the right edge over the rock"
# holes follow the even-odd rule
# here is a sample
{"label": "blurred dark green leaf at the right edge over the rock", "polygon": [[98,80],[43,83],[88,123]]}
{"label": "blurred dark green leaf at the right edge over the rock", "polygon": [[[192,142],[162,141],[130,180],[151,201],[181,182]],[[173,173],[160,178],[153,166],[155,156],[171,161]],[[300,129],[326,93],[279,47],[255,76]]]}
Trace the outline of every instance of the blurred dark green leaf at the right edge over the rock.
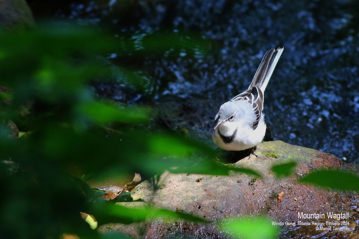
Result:
{"label": "blurred dark green leaf at the right edge over the rock", "polygon": [[359,176],[345,171],[317,170],[299,181],[334,190],[359,191]]}

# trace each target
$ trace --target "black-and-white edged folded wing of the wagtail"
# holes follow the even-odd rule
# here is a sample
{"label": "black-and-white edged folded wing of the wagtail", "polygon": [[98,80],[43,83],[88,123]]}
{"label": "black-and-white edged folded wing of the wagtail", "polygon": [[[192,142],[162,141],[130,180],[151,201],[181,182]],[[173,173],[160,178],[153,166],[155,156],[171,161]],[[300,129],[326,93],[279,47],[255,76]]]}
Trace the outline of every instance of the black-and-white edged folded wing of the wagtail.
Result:
{"label": "black-and-white edged folded wing of the wagtail", "polygon": [[261,119],[262,110],[263,110],[263,93],[258,86],[252,87],[243,93],[235,96],[230,101],[236,100],[247,100],[253,109],[253,113],[256,115],[256,120],[253,121],[252,128],[253,130],[257,128],[259,120]]}

